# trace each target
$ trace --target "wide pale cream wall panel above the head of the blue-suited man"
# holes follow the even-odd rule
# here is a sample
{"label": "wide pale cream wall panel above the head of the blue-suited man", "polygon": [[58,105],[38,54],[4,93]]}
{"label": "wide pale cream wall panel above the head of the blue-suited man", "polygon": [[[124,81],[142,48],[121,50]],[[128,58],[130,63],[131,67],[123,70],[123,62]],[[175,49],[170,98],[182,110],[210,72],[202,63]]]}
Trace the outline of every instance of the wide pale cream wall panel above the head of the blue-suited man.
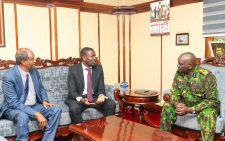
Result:
{"label": "wide pale cream wall panel above the head of the blue-suited man", "polygon": [[48,8],[17,5],[17,17],[19,48],[30,48],[36,57],[50,59]]}

